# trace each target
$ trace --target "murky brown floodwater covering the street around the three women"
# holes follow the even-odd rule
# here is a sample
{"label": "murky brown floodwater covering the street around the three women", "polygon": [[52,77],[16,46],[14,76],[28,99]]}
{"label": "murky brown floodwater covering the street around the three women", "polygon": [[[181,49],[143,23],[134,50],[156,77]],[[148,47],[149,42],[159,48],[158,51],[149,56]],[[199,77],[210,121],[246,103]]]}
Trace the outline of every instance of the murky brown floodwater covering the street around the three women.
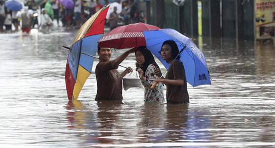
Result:
{"label": "murky brown floodwater covering the street around the three women", "polygon": [[[189,85],[189,105],[144,103],[138,88],[97,102],[94,73],[69,103],[62,45],[75,34],[0,34],[1,148],[275,147],[274,46],[194,40],[212,85]],[[121,65],[134,67],[134,54]]]}

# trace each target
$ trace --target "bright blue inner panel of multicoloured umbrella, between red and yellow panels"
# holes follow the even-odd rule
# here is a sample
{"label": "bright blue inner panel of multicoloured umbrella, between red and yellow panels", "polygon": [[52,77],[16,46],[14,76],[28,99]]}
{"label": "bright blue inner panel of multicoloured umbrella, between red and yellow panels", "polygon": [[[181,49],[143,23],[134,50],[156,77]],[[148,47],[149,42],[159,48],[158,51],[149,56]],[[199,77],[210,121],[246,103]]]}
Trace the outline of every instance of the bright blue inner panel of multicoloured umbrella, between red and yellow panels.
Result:
{"label": "bright blue inner panel of multicoloured umbrella, between red and yellow panels", "polygon": [[[92,36],[87,36],[82,39],[82,49],[81,51],[85,54],[95,56],[97,52],[97,41],[103,36],[103,34],[97,34]],[[81,54],[80,65],[85,68],[90,73],[92,72],[94,58]]]}

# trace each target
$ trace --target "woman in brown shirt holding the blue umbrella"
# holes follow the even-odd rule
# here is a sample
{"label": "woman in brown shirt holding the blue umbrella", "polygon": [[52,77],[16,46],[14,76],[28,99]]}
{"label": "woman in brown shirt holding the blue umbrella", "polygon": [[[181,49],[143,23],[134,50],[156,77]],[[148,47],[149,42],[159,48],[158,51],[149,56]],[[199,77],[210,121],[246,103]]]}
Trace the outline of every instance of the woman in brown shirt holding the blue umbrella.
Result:
{"label": "woman in brown shirt holding the blue umbrella", "polygon": [[[166,40],[161,49],[162,58],[170,63],[165,79],[160,78],[158,69],[155,74],[159,77],[156,82],[162,82],[166,85],[166,101],[168,104],[189,103],[189,94],[187,91],[187,82],[183,63],[179,60],[180,56],[177,44],[173,40]],[[177,57],[177,58],[176,58]]]}

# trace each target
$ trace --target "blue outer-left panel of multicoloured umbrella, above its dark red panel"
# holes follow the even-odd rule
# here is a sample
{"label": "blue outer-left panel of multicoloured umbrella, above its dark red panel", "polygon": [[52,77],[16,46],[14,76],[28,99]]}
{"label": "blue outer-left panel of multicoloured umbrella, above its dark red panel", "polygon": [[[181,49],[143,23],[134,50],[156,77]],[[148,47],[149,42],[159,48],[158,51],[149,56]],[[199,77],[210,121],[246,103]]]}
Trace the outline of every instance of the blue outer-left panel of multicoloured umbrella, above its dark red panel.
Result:
{"label": "blue outer-left panel of multicoloured umbrella, above its dark red panel", "polygon": [[78,65],[79,65],[79,59],[80,59],[80,53],[81,53],[81,42],[82,40],[78,40],[71,46],[69,56],[68,56],[69,66],[75,81],[77,80]]}

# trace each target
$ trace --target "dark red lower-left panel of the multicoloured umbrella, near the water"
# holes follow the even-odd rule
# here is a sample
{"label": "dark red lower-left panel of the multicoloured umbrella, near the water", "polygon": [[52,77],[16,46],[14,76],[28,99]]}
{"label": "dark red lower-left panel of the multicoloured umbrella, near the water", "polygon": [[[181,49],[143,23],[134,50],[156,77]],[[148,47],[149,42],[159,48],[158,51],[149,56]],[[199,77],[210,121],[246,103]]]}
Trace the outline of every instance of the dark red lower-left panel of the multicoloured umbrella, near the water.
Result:
{"label": "dark red lower-left panel of the multicoloured umbrella, near the water", "polygon": [[74,91],[76,81],[75,81],[74,76],[71,72],[68,60],[67,60],[66,71],[65,71],[65,82],[66,82],[68,99],[69,99],[69,101],[72,101],[72,96],[73,96],[73,91]]}

